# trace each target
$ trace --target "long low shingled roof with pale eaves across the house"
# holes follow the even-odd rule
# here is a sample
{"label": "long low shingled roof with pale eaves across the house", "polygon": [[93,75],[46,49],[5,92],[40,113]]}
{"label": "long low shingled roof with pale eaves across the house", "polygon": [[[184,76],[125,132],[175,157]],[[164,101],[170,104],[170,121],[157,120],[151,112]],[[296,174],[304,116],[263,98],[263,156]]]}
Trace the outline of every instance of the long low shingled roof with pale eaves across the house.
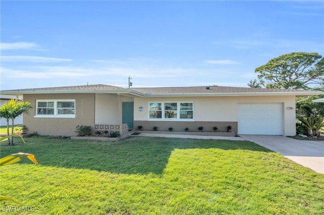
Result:
{"label": "long low shingled roof with pale eaves across the house", "polygon": [[193,86],[193,87],[149,87],[149,88],[123,88],[111,85],[80,85],[65,87],[46,87],[3,90],[1,93],[11,95],[23,94],[50,94],[50,93],[118,93],[141,97],[167,97],[167,96],[238,96],[238,95],[320,95],[321,91],[306,91],[295,89],[269,89],[250,87],[224,87],[224,86]]}

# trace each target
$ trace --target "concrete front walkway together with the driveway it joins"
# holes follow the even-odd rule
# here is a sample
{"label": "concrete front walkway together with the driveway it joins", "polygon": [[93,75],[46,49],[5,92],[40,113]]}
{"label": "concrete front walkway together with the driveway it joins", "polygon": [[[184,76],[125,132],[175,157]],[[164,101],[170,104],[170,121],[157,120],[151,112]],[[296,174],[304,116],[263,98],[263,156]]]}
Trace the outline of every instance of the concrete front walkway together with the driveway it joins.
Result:
{"label": "concrete front walkway together with the driveway it joins", "polygon": [[240,137],[222,136],[200,136],[182,134],[153,134],[140,133],[141,137],[173,137],[173,138],[193,138],[193,139],[215,139],[215,140],[248,140],[255,142],[272,151],[278,152],[294,162],[312,169],[317,173],[324,174],[324,141],[296,140],[284,136],[271,135],[240,135]]}

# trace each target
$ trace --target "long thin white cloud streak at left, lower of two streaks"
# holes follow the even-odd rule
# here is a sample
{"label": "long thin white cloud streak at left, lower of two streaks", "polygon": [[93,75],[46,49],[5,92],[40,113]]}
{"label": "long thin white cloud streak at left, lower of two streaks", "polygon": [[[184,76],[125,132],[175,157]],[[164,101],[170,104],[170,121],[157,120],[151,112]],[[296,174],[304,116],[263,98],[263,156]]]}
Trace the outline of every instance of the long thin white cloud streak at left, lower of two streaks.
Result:
{"label": "long thin white cloud streak at left, lower of two streaks", "polygon": [[39,56],[1,56],[2,61],[10,61],[10,62],[17,62],[17,61],[27,61],[27,62],[70,62],[71,59],[63,59],[63,58],[46,58],[46,57],[39,57]]}

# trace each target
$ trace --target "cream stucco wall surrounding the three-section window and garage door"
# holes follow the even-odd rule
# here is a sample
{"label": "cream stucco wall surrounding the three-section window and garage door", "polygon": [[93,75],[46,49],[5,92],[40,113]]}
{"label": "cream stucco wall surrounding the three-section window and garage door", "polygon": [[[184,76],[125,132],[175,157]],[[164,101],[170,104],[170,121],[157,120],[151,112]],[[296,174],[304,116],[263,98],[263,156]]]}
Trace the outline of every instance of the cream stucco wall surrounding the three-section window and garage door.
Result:
{"label": "cream stucco wall surrounding the three-section window and garage door", "polygon": [[[224,97],[141,97],[134,99],[134,127],[138,124],[145,124],[151,126],[152,122],[160,124],[160,120],[148,119],[148,106],[149,102],[169,102],[169,101],[182,101],[193,102],[194,106],[194,126],[202,124],[202,122],[218,122],[233,124],[238,121],[238,103],[282,103],[282,122],[284,136],[293,136],[296,134],[296,112],[295,112],[295,96],[224,96]],[[143,106],[143,111],[139,112],[138,107]],[[293,110],[287,108],[291,106]],[[147,123],[145,123],[147,122]],[[183,121],[164,121],[169,124],[177,126],[179,122],[185,124]],[[178,124],[177,124],[178,123]],[[191,125],[192,122],[187,122]],[[217,126],[217,125],[216,125]],[[137,127],[137,126],[136,126]],[[135,128],[136,128],[135,127]],[[144,127],[144,125],[143,125]],[[233,127],[233,126],[232,126]],[[235,128],[233,128],[234,130]],[[235,131],[237,132],[237,130]]]}

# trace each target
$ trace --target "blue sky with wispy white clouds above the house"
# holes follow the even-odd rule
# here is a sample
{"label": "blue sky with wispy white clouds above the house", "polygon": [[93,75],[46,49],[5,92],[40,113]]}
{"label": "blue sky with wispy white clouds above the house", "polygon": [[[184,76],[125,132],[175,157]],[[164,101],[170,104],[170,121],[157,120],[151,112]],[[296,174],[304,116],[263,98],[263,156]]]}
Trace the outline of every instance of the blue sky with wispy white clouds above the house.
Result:
{"label": "blue sky with wispy white clouds above the house", "polygon": [[238,86],[324,55],[323,1],[1,1],[1,89]]}

